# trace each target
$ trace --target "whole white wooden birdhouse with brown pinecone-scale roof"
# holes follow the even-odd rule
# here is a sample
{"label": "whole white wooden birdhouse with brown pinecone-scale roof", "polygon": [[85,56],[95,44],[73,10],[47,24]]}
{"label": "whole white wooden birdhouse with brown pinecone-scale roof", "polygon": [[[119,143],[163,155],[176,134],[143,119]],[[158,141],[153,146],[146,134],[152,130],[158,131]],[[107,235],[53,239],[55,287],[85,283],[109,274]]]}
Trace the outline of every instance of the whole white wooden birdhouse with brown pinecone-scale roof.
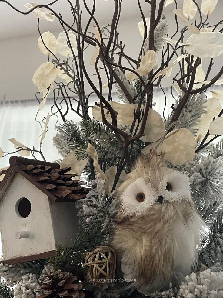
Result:
{"label": "whole white wooden birdhouse with brown pinecone-scale roof", "polygon": [[[12,156],[0,183],[3,263],[49,258],[78,232],[75,201],[89,189],[57,163]],[[83,184],[83,183],[82,183]]]}

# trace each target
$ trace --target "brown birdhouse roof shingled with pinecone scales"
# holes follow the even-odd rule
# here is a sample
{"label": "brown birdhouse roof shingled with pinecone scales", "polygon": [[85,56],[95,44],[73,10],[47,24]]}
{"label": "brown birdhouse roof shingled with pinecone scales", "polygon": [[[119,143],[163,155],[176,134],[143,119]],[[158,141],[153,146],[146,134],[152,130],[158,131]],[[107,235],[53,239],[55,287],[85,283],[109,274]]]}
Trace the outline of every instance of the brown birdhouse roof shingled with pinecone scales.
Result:
{"label": "brown birdhouse roof shingled with pinecone scales", "polygon": [[[0,201],[16,173],[35,185],[49,199],[57,202],[75,201],[86,197],[89,188],[81,186],[79,180],[72,178],[75,174],[66,174],[71,168],[60,169],[58,163],[48,163],[40,160],[12,156],[10,167],[0,183]],[[16,190],[15,190],[16,191]]]}

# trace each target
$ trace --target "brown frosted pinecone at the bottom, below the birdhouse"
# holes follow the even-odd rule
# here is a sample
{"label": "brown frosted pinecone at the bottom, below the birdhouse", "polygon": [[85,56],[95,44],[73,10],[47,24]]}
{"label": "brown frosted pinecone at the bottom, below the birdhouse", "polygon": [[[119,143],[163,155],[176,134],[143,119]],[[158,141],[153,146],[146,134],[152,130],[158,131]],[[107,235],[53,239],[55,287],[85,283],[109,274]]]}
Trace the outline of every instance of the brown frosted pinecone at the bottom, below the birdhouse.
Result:
{"label": "brown frosted pinecone at the bottom, below the birdhouse", "polygon": [[47,274],[39,278],[41,285],[37,286],[36,292],[39,292],[40,296],[37,297],[85,297],[85,294],[80,291],[82,284],[74,283],[75,280],[77,280],[77,276],[72,276],[71,273],[49,270]]}

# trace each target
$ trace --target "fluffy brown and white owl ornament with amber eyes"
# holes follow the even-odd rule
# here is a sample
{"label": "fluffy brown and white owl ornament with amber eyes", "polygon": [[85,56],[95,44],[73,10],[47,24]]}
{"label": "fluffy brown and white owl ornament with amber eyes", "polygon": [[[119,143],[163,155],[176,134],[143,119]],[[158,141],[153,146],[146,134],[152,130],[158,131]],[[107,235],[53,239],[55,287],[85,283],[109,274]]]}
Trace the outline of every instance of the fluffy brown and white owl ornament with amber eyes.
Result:
{"label": "fluffy brown and white owl ornament with amber eyes", "polygon": [[117,273],[134,280],[144,295],[189,274],[197,264],[204,222],[187,174],[169,169],[152,151],[139,157],[116,197],[120,207],[109,245],[117,253]]}

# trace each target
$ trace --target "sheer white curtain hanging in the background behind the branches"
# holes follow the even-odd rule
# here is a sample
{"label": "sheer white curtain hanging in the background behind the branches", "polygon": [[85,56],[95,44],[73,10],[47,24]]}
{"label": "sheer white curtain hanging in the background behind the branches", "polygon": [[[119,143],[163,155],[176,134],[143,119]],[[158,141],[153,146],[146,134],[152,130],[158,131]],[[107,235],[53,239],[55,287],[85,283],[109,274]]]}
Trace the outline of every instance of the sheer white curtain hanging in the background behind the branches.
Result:
{"label": "sheer white curtain hanging in the background behind the branches", "polygon": [[[174,99],[170,95],[168,90],[165,90],[167,96],[167,104],[165,117],[171,111],[170,106],[174,102]],[[113,100],[117,99],[117,95],[113,94]],[[90,105],[93,105],[95,101],[98,101],[96,96],[91,96]],[[157,88],[154,92],[154,102],[156,105],[154,109],[163,115],[163,109],[165,106],[165,97],[161,89]],[[36,100],[21,100],[21,101],[0,101],[0,146],[4,152],[13,152],[14,146],[8,141],[10,138],[15,138],[23,145],[39,150],[39,141],[44,124],[42,119],[47,116],[51,110],[53,102],[47,100],[45,107],[37,115],[37,120],[42,124],[42,128],[38,122],[35,121],[35,116],[38,111],[38,102]],[[54,110],[55,111],[55,110]],[[57,114],[58,115],[58,114]],[[42,152],[46,160],[53,161],[59,158],[57,150],[52,146],[52,138],[56,134],[55,125],[62,123],[60,116],[57,119],[55,116],[50,118],[48,124],[48,131],[46,137],[42,143]],[[80,118],[72,111],[68,112],[67,119],[77,122]],[[15,155],[18,155],[17,153]],[[0,168],[8,166],[8,159],[10,156],[0,159]],[[41,156],[36,154],[37,158],[41,159]],[[32,158],[32,156],[30,157]]]}

